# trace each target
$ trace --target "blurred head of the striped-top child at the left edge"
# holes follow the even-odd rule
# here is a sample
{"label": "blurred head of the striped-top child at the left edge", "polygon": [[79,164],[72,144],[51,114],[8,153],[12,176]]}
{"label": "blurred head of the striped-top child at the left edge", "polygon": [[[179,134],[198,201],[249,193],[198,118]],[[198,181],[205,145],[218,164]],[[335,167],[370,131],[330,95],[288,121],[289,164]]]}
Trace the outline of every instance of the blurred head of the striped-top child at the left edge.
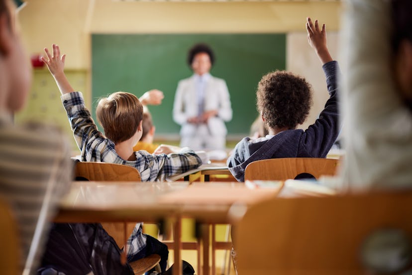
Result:
{"label": "blurred head of the striped-top child at the left edge", "polygon": [[0,0],[0,108],[20,110],[31,85],[31,66],[20,41],[15,5]]}

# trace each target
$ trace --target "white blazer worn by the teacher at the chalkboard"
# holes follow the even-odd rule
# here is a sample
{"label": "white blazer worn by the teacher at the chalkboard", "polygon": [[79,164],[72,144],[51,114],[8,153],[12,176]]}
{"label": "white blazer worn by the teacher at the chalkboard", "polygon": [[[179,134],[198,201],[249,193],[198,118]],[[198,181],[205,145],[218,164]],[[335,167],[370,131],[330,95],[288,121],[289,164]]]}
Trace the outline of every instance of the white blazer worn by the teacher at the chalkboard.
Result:
{"label": "white blazer worn by the teacher at the chalkboard", "polygon": [[[173,105],[173,120],[182,126],[181,136],[194,135],[197,126],[187,123],[188,118],[197,117],[198,98],[195,85],[195,76],[179,81]],[[218,110],[216,117],[209,118],[207,126],[213,136],[226,136],[227,129],[224,122],[232,119],[229,91],[223,79],[211,76],[205,87],[205,112]]]}

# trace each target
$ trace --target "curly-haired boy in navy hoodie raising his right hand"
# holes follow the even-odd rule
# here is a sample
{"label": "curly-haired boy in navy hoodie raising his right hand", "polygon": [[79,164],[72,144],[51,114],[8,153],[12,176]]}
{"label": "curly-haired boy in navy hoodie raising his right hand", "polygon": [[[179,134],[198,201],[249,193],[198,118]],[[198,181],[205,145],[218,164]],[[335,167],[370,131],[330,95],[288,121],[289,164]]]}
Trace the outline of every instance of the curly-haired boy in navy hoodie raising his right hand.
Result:
{"label": "curly-haired boy in navy hoodie raising his right hand", "polygon": [[227,159],[230,172],[244,181],[246,166],[256,160],[280,157],[326,157],[339,134],[337,99],[338,63],[326,44],[325,25],[319,28],[307,18],[308,41],[322,63],[329,99],[319,118],[308,129],[296,129],[305,122],[312,105],[310,84],[291,72],[275,71],[263,76],[256,91],[257,108],[269,135],[243,138]]}

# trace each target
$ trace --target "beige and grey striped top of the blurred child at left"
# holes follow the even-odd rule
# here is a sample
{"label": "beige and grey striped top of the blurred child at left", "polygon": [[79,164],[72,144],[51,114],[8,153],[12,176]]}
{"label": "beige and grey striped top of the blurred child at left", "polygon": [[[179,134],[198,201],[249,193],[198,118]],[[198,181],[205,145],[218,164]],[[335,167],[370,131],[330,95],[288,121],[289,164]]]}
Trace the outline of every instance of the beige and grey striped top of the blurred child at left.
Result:
{"label": "beige and grey striped top of the blurred child at left", "polygon": [[[59,132],[38,126],[16,129],[0,125],[0,194],[10,204],[17,220],[21,267],[29,253],[46,190],[52,194],[46,205],[49,221],[57,210],[58,200],[69,187],[71,170],[70,148]],[[43,252],[47,224],[34,254],[33,269]]]}

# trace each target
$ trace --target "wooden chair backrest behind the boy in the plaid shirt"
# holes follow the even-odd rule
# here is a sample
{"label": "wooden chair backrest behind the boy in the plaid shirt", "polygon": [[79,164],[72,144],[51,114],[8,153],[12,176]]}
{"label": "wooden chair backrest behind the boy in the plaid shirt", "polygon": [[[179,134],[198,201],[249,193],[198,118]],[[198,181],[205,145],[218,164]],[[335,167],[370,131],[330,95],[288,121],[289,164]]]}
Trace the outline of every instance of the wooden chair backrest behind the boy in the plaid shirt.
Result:
{"label": "wooden chair backrest behind the boy in the plaid shirt", "polygon": [[140,173],[136,168],[105,162],[76,163],[75,177],[96,181],[141,181]]}

